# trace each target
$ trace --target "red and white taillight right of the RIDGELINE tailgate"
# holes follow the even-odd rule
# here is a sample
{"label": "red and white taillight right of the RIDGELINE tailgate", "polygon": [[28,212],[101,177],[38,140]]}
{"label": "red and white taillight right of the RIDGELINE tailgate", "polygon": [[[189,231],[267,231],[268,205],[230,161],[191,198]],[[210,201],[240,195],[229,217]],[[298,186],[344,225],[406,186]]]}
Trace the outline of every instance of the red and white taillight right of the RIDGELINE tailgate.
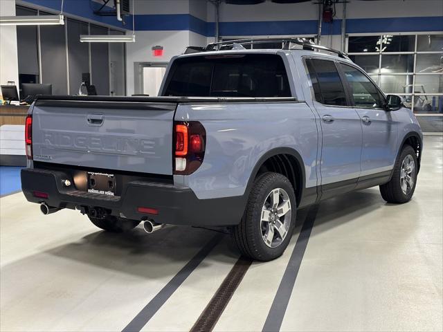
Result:
{"label": "red and white taillight right of the RIDGELINE tailgate", "polygon": [[206,131],[198,121],[174,122],[174,174],[189,175],[203,163]]}

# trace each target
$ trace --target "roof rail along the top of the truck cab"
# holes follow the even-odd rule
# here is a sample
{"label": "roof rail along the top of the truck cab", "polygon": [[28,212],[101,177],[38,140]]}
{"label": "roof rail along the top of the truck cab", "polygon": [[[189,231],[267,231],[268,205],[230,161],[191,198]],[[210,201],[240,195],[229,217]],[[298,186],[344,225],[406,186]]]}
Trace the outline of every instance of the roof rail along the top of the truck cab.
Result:
{"label": "roof rail along the top of the truck cab", "polygon": [[[297,49],[294,46],[301,46],[302,50],[323,50],[325,52],[334,53],[343,59],[350,59],[346,53],[340,50],[334,50],[333,48],[328,48],[326,46],[321,46],[310,42],[305,38],[248,38],[248,39],[235,39],[226,42],[210,43],[206,48],[189,46],[186,48],[185,54],[195,53],[195,52],[208,52],[211,50],[232,50],[238,45],[255,45],[255,44],[267,44],[267,43],[282,43],[283,50],[294,50]],[[198,50],[197,50],[198,49]],[[238,49],[238,48],[237,48]]]}

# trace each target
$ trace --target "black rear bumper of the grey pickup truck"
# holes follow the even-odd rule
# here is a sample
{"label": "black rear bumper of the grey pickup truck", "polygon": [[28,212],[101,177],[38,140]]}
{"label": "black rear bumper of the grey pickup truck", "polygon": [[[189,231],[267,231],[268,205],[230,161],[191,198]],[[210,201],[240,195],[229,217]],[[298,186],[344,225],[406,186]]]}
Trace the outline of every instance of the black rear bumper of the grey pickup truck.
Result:
{"label": "black rear bumper of the grey pickup truck", "polygon": [[[221,199],[198,199],[189,188],[177,188],[170,183],[131,181],[125,184],[121,196],[93,194],[64,187],[62,179],[70,179],[64,172],[46,169],[22,169],[21,188],[26,199],[46,203],[55,208],[103,208],[114,216],[127,219],[152,219],[173,225],[222,226],[237,225],[242,218],[244,196]],[[48,199],[36,197],[34,192],[48,194]],[[159,214],[138,212],[138,207],[154,208]]]}

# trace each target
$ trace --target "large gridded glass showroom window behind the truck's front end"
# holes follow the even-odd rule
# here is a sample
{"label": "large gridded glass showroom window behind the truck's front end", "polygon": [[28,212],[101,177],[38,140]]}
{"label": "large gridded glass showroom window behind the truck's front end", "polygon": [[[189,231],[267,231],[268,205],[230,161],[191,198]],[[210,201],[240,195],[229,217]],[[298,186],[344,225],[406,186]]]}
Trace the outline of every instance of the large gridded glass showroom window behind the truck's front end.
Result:
{"label": "large gridded glass showroom window behind the truck's front end", "polygon": [[347,53],[416,113],[443,113],[443,35],[351,35]]}

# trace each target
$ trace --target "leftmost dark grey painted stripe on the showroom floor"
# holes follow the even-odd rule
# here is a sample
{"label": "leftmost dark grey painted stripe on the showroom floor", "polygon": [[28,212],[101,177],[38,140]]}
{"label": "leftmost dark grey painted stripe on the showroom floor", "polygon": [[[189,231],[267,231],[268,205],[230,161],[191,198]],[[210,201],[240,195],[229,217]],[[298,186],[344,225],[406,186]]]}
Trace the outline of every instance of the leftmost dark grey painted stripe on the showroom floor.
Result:
{"label": "leftmost dark grey painted stripe on the showroom floor", "polygon": [[162,290],[155,295],[155,297],[143,308],[134,319],[127,324],[123,332],[138,332],[141,331],[143,326],[146,325],[147,322],[155,315],[157,311],[165,304],[166,301],[177,291],[177,288],[183,284],[186,278],[192,273],[197,266],[203,261],[206,256],[208,256],[209,252],[213,250],[215,246],[220,242],[220,240],[224,237],[223,234],[217,234],[213,239],[211,239],[206,246],[201,248],[197,254],[192,257],[188,264],[184,266],[179,273],[175,275]]}

